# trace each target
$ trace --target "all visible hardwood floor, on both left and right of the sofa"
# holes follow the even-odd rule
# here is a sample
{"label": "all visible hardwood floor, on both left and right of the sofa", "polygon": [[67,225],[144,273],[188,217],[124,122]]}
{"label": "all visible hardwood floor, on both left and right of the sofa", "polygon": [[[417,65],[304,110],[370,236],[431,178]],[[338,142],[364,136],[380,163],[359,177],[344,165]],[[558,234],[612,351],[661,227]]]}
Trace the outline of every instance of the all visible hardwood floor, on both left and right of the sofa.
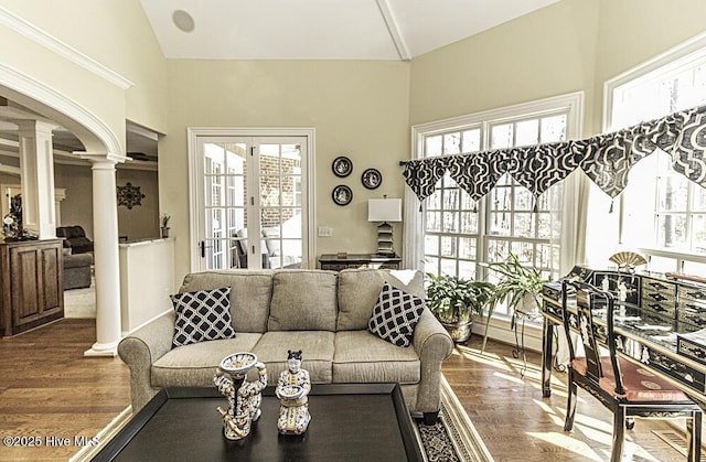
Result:
{"label": "all visible hardwood floor, on both left and right of the sofa", "polygon": [[[65,319],[0,340],[0,434],[41,441],[39,448],[3,444],[1,461],[65,461],[82,449],[74,438],[95,437],[129,405],[127,366],[117,357],[83,356],[94,341],[95,320],[83,319]],[[522,362],[512,357],[512,346],[489,342],[481,354],[480,339],[474,336],[469,346],[457,346],[443,365],[494,459],[608,460],[610,412],[579,391],[575,431],[565,433],[561,374],[555,374],[552,398],[543,399],[539,355],[530,353],[527,359],[523,378]],[[674,433],[668,423],[639,420],[628,432],[632,460],[685,460],[653,430]],[[69,445],[57,445],[64,439]]]}

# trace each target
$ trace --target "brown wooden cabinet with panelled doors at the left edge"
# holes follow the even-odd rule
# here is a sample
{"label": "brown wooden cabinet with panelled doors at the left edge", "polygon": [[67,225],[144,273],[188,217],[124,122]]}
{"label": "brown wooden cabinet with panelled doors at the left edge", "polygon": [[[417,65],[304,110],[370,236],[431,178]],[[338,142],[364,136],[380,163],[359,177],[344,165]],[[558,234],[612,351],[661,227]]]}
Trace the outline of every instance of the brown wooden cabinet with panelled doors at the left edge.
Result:
{"label": "brown wooden cabinet with panelled doors at the left edge", "polygon": [[0,278],[3,336],[64,316],[62,239],[0,244]]}

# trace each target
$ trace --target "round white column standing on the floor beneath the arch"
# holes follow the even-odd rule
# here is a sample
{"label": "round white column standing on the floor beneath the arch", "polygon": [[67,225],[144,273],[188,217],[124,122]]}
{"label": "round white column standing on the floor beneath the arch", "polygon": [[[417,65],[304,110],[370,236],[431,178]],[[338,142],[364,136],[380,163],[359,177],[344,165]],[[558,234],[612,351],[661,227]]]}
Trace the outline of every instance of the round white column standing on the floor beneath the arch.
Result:
{"label": "round white column standing on the floor beneath the arch", "polygon": [[115,356],[120,342],[120,262],[115,165],[125,158],[79,153],[93,163],[93,240],[96,277],[96,343],[85,356]]}

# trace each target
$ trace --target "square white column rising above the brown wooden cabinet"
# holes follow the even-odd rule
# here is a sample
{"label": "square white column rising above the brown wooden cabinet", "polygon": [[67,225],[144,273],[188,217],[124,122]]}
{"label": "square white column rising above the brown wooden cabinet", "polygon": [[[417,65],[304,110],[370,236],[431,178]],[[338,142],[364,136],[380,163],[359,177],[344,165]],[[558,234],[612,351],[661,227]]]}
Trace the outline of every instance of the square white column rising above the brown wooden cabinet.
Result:
{"label": "square white column rising above the brown wooden cabinet", "polygon": [[56,127],[40,120],[18,120],[22,226],[40,239],[56,237],[54,203],[54,147]]}

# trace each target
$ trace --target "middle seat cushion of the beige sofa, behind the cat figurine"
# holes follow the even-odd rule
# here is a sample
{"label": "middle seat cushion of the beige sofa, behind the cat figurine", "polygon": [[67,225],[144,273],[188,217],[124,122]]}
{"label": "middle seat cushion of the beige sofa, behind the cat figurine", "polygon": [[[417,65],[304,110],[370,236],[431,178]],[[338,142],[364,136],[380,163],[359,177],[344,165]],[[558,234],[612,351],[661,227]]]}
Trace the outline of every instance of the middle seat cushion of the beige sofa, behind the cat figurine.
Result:
{"label": "middle seat cushion of the beige sofa, behind the cat figurine", "polygon": [[301,367],[309,370],[311,383],[331,383],[333,340],[327,331],[267,332],[255,345],[253,353],[267,366],[267,382],[277,384],[279,374],[287,368],[287,351],[301,350]]}

